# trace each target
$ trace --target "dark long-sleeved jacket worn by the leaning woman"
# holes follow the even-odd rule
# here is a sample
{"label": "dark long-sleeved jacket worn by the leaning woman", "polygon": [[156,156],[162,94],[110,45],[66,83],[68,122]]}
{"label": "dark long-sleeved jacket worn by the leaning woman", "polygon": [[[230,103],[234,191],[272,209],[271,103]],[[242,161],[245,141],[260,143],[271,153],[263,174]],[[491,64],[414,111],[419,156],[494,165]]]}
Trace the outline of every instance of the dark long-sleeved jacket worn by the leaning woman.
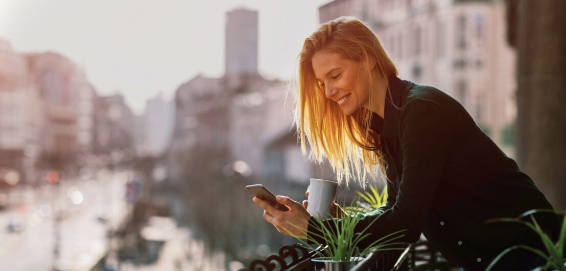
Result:
{"label": "dark long-sleeved jacket worn by the leaning woman", "polygon": [[[376,220],[367,231],[371,237],[361,246],[406,229],[401,241],[416,242],[424,233],[447,260],[471,270],[485,269],[514,244],[539,246],[526,226],[485,223],[552,206],[464,107],[438,89],[397,77],[389,78],[389,91],[400,109],[386,99],[385,118],[374,113],[371,125],[381,135],[389,196],[385,206],[358,214],[358,232]],[[555,217],[537,218],[548,228]],[[313,222],[311,217],[310,237],[319,233]],[[499,266],[510,266],[523,254],[510,253]]]}

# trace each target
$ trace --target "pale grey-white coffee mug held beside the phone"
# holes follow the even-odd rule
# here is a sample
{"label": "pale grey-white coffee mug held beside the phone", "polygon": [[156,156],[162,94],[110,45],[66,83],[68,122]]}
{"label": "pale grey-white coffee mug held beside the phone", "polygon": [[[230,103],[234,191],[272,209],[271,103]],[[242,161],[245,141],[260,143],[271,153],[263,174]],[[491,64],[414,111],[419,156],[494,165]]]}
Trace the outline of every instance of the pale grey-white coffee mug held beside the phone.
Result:
{"label": "pale grey-white coffee mug held beside the phone", "polygon": [[320,219],[332,217],[331,204],[336,199],[338,183],[321,179],[310,179],[311,187],[308,189],[307,211]]}

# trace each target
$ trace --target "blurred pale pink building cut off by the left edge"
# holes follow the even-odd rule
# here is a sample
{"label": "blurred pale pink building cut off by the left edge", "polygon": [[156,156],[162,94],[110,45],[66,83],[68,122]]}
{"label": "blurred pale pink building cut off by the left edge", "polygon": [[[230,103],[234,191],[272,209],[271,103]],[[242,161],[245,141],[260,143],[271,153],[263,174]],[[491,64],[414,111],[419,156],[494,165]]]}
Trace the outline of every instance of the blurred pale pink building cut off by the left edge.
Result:
{"label": "blurred pale pink building cut off by the left edge", "polygon": [[39,89],[28,75],[26,56],[0,39],[0,168],[18,171],[18,181],[35,178],[42,107]]}

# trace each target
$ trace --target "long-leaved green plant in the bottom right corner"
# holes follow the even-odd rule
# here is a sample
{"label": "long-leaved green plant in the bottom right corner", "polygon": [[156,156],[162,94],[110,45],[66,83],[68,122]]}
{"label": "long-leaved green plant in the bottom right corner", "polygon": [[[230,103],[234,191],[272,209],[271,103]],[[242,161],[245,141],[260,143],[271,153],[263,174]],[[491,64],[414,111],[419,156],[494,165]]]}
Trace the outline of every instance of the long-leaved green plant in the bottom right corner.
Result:
{"label": "long-leaved green plant in the bottom right corner", "polygon": [[[492,219],[488,220],[487,222],[488,223],[490,223],[490,222],[515,222],[515,223],[520,223],[522,225],[528,226],[531,230],[533,230],[535,233],[537,233],[539,235],[539,237],[541,237],[542,243],[544,244],[544,248],[546,248],[547,253],[544,253],[543,251],[538,250],[537,248],[518,244],[516,246],[509,247],[509,248],[505,249],[504,251],[501,251],[501,253],[499,253],[499,255],[496,256],[493,261],[491,261],[491,264],[489,266],[487,266],[486,271],[493,268],[493,266],[501,259],[501,257],[503,257],[503,255],[507,254],[509,251],[516,250],[518,248],[522,248],[524,250],[528,250],[528,251],[531,251],[533,253],[537,253],[537,255],[543,257],[546,260],[545,265],[539,266],[535,270],[547,270],[548,268],[554,268],[556,270],[566,271],[566,257],[564,257],[564,243],[566,242],[565,241],[565,239],[566,239],[566,218],[562,222],[562,225],[561,225],[561,228],[560,228],[559,238],[558,238],[558,241],[556,241],[556,244],[555,244],[555,243],[552,243],[552,240],[550,239],[550,237],[548,237],[548,235],[544,233],[544,231],[538,225],[537,220],[535,220],[535,218],[533,217],[533,213],[537,213],[537,212],[553,212],[554,213],[554,210],[551,210],[551,209],[535,209],[535,210],[531,210],[531,211],[527,211],[525,213],[522,213],[520,216],[515,217],[515,218],[492,218]],[[532,223],[522,220],[522,218],[524,218],[526,216],[530,216]]]}

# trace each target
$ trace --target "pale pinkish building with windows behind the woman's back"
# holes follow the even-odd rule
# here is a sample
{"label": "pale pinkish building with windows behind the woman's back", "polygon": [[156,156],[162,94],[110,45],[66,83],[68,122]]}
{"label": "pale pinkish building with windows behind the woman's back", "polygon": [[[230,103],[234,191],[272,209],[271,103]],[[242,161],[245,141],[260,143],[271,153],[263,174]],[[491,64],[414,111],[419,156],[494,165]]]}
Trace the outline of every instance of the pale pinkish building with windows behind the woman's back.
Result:
{"label": "pale pinkish building with windows behind the woman's back", "polygon": [[516,56],[505,41],[499,0],[336,0],[321,23],[339,16],[366,21],[400,77],[457,99],[478,126],[514,156]]}

